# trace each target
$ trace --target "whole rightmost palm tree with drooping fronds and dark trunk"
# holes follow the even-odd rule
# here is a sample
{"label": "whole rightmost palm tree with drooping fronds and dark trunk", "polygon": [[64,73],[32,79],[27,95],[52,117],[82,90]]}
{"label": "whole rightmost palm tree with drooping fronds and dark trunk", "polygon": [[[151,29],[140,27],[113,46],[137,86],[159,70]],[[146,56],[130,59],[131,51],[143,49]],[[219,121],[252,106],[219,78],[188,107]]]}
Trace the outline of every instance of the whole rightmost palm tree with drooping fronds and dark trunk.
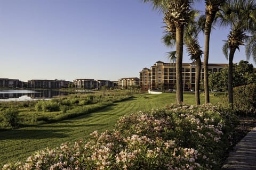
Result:
{"label": "whole rightmost palm tree with drooping fronds and dark trunk", "polygon": [[[230,32],[227,36],[228,40],[222,47],[222,51],[228,58],[228,101],[233,108],[233,58],[236,49],[239,50],[239,46],[246,46],[247,58],[255,50],[253,37],[250,33],[255,30],[256,24],[256,2],[253,0],[229,0],[226,5],[223,5],[221,11],[217,14],[221,25],[229,26]],[[228,54],[229,52],[229,54]]]}

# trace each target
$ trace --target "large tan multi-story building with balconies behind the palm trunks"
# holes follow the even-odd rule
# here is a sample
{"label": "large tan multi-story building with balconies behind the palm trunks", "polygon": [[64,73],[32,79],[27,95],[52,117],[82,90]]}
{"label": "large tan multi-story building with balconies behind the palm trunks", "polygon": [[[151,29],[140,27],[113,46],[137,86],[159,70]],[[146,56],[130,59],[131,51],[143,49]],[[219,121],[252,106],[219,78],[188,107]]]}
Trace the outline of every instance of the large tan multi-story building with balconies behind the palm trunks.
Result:
{"label": "large tan multi-story building with balconies behind the palm trunks", "polygon": [[[208,64],[209,72],[219,72],[227,64]],[[202,66],[203,67],[203,66]],[[201,70],[201,82],[204,79],[204,69]],[[182,84],[183,90],[195,88],[196,64],[182,64]],[[148,89],[175,89],[176,84],[176,64],[156,62],[150,69],[144,68],[140,72],[140,86],[142,90]]]}

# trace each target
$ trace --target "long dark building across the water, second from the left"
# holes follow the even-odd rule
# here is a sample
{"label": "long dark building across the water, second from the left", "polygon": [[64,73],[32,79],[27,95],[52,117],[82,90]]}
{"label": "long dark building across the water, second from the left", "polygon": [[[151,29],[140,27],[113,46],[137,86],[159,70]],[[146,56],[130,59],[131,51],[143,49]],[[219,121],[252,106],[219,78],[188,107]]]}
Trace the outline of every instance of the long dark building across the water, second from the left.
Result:
{"label": "long dark building across the water, second from the left", "polygon": [[72,83],[66,80],[29,80],[28,88],[35,89],[60,89],[68,88],[68,84]]}

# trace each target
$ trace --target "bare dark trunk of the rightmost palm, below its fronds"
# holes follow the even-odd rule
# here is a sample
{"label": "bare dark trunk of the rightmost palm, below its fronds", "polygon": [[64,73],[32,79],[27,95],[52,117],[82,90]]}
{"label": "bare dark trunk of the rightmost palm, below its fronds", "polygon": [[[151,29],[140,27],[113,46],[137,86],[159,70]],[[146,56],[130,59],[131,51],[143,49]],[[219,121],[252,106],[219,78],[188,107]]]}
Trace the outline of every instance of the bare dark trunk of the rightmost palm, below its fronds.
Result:
{"label": "bare dark trunk of the rightmost palm, below its fronds", "polygon": [[230,48],[228,57],[228,103],[233,109],[233,58],[236,48]]}

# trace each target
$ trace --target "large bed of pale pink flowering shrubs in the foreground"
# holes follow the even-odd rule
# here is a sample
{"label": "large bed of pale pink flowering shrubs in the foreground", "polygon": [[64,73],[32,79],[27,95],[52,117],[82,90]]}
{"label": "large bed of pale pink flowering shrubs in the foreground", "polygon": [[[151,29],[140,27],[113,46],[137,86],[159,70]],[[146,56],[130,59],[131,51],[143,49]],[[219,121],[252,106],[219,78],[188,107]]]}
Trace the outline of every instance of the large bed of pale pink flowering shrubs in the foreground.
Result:
{"label": "large bed of pale pink flowering shrubs in the foreground", "polygon": [[87,142],[38,151],[3,169],[220,169],[235,125],[217,106],[171,105],[121,117]]}

